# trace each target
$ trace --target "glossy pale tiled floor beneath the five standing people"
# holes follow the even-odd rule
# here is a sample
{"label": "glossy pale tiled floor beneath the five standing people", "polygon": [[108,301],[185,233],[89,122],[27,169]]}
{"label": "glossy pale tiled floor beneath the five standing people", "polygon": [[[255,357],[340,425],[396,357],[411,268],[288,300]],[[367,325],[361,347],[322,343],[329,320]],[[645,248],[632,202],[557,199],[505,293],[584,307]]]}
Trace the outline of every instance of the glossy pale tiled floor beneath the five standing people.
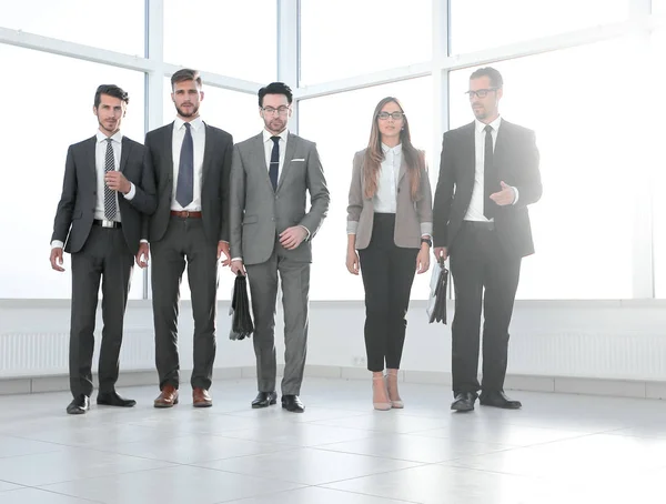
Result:
{"label": "glossy pale tiled floor beneath the five standing people", "polygon": [[[297,415],[251,410],[253,381],[188,390],[155,410],[69,416],[67,393],[0,397],[0,503],[551,504],[663,502],[666,402],[515,392],[521,411],[448,410],[444,386],[402,384],[375,412],[370,380],[306,380]],[[93,396],[94,399],[94,396]]]}

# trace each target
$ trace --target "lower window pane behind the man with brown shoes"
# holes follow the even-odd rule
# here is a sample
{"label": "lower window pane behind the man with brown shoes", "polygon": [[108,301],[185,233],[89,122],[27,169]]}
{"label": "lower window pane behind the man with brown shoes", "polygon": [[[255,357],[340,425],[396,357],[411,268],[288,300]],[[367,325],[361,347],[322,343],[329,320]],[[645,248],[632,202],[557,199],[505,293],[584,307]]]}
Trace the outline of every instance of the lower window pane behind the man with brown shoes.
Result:
{"label": "lower window pane behind the man with brown shoes", "polygon": [[[233,135],[234,143],[259,134],[263,122],[259,117],[259,102],[256,94],[240,93],[226,89],[213,88],[203,82],[204,98],[201,102],[201,118],[210,125],[221,128]],[[171,81],[164,80],[164,122],[175,118],[175,108],[171,101]],[[218,299],[231,299],[233,275],[228,268],[220,269],[220,291]],[[190,299],[188,272],[183,274],[181,298]]]}

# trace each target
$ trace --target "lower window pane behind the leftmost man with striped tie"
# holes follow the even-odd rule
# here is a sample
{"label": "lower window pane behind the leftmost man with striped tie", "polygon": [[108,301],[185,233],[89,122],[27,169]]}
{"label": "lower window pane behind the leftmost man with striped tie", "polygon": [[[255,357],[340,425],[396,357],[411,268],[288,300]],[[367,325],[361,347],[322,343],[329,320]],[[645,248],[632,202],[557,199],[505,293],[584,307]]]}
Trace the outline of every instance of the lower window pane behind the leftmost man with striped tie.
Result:
{"label": "lower window pane behind the leftmost man with striped tie", "polygon": [[[0,249],[0,298],[69,298],[71,262],[59,274],[49,264],[49,242],[60,200],[68,147],[95,134],[94,91],[115,83],[130,94],[122,131],[143,141],[144,75],[103,64],[0,44],[12,75],[0,80],[4,121],[0,150],[4,179],[0,229],[11,245]],[[54,77],[57,75],[57,77]],[[135,269],[131,298],[142,295]]]}

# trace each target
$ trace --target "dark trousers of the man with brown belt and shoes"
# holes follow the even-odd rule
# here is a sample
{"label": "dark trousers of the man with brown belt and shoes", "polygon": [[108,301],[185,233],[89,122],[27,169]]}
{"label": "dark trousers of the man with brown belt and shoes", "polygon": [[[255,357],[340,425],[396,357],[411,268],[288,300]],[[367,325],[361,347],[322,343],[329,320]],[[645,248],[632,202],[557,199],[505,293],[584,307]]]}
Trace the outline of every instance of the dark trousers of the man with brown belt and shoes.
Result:
{"label": "dark trousers of the man with brown belt and shoes", "polygon": [[155,365],[160,390],[179,387],[178,315],[180,284],[185,265],[194,317],[192,387],[209,390],[215,361],[218,309],[218,244],[211,243],[201,219],[171,216],[162,240],[151,243],[152,300],[155,326]]}

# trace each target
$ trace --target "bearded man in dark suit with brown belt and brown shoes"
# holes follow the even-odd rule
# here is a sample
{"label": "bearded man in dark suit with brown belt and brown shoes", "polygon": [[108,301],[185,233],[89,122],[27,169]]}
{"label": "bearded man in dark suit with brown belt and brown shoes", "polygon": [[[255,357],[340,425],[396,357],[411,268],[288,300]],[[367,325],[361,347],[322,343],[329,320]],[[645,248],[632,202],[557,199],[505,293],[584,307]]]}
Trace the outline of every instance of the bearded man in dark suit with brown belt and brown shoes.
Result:
{"label": "bearded man in dark suit with brown belt and brown shoes", "polygon": [[[202,82],[195,70],[171,77],[175,121],[145,135],[145,164],[154,173],[158,209],[147,222],[152,249],[155,363],[160,395],[155,407],[179,401],[178,313],[185,265],[194,315],[192,402],[213,404],[209,389],[215,360],[218,261],[229,264],[229,174],[231,134],[201,120]],[[148,256],[148,243],[141,253]]]}

